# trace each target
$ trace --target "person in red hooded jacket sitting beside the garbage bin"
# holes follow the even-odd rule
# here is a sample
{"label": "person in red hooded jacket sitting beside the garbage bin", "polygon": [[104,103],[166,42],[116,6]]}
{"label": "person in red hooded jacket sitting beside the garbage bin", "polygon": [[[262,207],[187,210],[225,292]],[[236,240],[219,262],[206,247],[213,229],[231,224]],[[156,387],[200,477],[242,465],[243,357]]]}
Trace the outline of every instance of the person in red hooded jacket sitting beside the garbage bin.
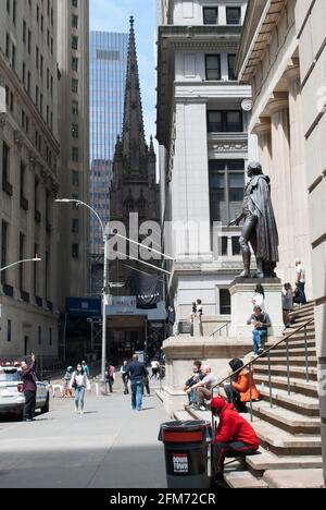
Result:
{"label": "person in red hooded jacket sitting beside the garbage bin", "polygon": [[252,426],[221,397],[212,399],[211,410],[220,417],[213,439],[214,479],[218,484],[223,482],[225,458],[252,456],[258,451],[260,440]]}

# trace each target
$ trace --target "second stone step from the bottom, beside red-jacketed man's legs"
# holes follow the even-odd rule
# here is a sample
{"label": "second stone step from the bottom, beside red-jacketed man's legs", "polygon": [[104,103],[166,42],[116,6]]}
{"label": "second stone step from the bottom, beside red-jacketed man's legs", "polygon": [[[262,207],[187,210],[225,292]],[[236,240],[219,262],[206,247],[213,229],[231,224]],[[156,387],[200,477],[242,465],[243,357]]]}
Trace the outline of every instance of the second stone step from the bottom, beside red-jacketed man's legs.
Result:
{"label": "second stone step from the bottom, beside red-jacketed man's legs", "polygon": [[246,463],[250,472],[261,478],[265,471],[271,470],[312,470],[323,467],[322,456],[312,457],[278,457],[266,451],[263,448],[260,449],[259,456],[252,456],[246,458]]}

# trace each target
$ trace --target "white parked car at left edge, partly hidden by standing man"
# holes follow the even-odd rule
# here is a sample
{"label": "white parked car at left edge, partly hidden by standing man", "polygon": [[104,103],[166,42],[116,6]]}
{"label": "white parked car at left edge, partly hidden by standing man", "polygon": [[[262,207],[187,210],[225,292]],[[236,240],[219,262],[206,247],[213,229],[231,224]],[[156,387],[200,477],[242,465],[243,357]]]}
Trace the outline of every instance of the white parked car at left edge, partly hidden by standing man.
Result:
{"label": "white parked car at left edge, partly hidden by standing man", "polygon": [[[36,381],[36,410],[48,413],[50,392],[48,381]],[[16,414],[23,417],[25,397],[23,393],[22,368],[20,363],[0,366],[0,414]]]}

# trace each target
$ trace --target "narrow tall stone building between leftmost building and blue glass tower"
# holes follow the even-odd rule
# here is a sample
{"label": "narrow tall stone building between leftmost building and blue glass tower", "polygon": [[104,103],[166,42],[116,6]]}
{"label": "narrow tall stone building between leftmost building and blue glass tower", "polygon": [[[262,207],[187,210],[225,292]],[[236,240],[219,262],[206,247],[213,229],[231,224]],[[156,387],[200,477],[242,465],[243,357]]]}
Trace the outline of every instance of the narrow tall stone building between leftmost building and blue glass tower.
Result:
{"label": "narrow tall stone building between leftmost building and blue glass tower", "polygon": [[[58,2],[60,198],[89,203],[89,1]],[[89,292],[89,211],[57,205],[60,303]],[[65,268],[62,271],[62,268]],[[67,278],[68,275],[68,278]]]}

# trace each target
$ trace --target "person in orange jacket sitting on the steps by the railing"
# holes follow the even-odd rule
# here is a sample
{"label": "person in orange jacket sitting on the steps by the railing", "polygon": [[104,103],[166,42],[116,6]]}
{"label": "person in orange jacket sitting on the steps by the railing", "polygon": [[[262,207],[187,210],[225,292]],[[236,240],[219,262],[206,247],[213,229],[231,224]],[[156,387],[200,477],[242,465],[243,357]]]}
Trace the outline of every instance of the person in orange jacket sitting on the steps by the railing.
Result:
{"label": "person in orange jacket sitting on the steps by the railing", "polygon": [[235,404],[235,409],[239,413],[246,413],[246,403],[250,402],[250,399],[252,399],[252,402],[258,402],[261,399],[253,380],[253,373],[250,375],[250,371],[243,368],[243,362],[239,359],[231,360],[229,366],[233,373],[240,371],[240,368],[242,368],[242,371],[234,376],[230,385],[224,387],[228,403]]}

